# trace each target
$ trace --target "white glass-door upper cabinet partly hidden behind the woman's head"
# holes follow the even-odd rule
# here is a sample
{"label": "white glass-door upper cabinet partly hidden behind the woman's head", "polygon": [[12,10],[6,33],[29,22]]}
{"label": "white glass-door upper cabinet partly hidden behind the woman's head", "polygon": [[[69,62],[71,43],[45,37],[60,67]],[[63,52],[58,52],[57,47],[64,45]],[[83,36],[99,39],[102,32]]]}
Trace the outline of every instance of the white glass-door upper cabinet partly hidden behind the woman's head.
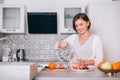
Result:
{"label": "white glass-door upper cabinet partly hidden behind the woman's head", "polygon": [[73,18],[77,13],[85,13],[85,6],[83,5],[64,5],[59,9],[59,34],[76,33],[73,30]]}

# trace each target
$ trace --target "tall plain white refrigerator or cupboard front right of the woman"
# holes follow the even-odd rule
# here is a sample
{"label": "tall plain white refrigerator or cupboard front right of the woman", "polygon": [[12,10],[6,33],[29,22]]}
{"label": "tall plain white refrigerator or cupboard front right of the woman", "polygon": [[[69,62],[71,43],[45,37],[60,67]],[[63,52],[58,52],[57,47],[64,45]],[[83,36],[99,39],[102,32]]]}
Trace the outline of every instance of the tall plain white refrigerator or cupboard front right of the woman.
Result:
{"label": "tall plain white refrigerator or cupboard front right of the woman", "polygon": [[91,20],[91,32],[102,40],[104,60],[120,61],[120,1],[90,2],[87,14]]}

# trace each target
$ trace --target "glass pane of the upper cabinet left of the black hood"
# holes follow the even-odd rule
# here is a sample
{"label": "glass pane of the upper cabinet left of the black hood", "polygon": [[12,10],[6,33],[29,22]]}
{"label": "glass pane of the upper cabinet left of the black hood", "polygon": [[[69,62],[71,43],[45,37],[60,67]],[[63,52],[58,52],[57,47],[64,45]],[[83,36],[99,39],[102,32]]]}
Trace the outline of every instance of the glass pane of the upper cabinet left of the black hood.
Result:
{"label": "glass pane of the upper cabinet left of the black hood", "polygon": [[19,29],[19,26],[20,8],[3,8],[3,29]]}

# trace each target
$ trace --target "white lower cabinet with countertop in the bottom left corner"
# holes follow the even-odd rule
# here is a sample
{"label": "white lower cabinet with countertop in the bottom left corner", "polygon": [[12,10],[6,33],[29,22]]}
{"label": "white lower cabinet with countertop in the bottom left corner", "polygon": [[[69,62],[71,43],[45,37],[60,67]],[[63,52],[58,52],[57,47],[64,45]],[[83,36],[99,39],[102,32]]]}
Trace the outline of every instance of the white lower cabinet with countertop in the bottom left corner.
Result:
{"label": "white lower cabinet with countertop in the bottom left corner", "polygon": [[1,80],[33,80],[37,75],[38,65],[31,62],[1,62]]}

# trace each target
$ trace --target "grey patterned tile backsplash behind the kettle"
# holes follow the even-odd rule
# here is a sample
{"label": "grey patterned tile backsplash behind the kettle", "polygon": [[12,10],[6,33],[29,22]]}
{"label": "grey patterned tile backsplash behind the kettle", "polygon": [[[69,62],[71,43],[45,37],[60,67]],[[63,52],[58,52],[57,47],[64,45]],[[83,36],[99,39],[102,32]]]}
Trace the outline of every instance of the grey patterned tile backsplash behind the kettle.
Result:
{"label": "grey patterned tile backsplash behind the kettle", "polygon": [[17,49],[25,49],[28,61],[58,61],[54,45],[65,39],[68,35],[57,34],[9,34],[8,40],[3,42],[3,55],[8,48],[12,48],[13,54]]}

